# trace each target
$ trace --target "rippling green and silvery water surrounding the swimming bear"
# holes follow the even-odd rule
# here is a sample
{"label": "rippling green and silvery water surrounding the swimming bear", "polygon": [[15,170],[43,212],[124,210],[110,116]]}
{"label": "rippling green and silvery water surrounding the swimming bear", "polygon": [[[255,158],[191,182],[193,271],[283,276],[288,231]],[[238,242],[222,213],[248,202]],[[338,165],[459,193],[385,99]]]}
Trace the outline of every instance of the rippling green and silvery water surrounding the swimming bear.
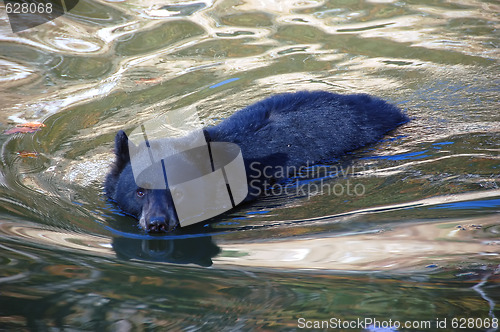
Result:
{"label": "rippling green and silvery water surrounding the swimming bear", "polygon": [[[2,11],[0,327],[498,330],[499,12],[80,1],[13,34]],[[377,95],[412,121],[311,169],[305,192],[182,235],[148,236],[103,196],[119,129],[182,107],[210,125],[303,89]],[[45,127],[8,134],[25,122]]]}

